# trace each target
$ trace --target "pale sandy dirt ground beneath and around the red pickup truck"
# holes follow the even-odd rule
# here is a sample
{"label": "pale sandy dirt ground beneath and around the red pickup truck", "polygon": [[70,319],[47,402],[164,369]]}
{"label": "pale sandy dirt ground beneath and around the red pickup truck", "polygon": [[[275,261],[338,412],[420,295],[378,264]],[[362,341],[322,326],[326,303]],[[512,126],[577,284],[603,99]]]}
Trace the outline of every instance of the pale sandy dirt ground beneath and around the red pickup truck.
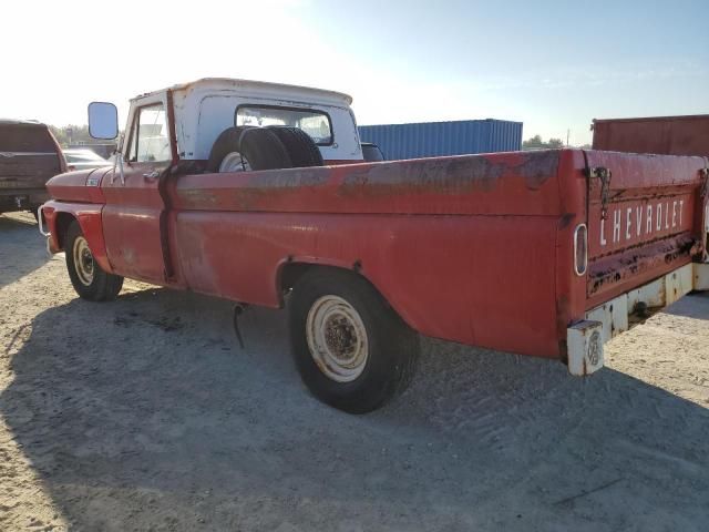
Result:
{"label": "pale sandy dirt ground beneath and around the red pickup truck", "polygon": [[0,216],[0,530],[700,531],[709,295],[608,367],[424,340],[395,402],[312,399],[285,315],[127,282],[91,304],[30,215]]}

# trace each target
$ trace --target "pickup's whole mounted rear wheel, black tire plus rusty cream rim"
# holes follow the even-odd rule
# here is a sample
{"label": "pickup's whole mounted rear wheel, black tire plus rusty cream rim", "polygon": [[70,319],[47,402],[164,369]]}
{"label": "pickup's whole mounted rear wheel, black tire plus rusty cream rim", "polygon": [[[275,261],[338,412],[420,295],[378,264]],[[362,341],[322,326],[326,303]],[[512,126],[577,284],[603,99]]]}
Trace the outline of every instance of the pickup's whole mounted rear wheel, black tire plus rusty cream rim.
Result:
{"label": "pickup's whole mounted rear wheel, black tire plus rusty cream rim", "polygon": [[296,366],[321,401],[364,413],[410,382],[419,336],[364,278],[315,269],[296,284],[288,307]]}

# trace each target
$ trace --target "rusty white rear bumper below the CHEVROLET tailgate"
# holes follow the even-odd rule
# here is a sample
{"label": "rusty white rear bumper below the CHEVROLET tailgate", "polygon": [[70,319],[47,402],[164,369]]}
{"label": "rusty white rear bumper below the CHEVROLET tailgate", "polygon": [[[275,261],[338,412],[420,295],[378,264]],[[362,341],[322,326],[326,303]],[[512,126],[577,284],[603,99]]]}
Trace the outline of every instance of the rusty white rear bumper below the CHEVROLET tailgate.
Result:
{"label": "rusty white rear bumper below the CHEVROLET tailgate", "polygon": [[588,310],[566,329],[568,371],[584,376],[603,368],[603,345],[629,329],[631,314],[666,307],[691,290],[709,290],[709,263],[687,264]]}

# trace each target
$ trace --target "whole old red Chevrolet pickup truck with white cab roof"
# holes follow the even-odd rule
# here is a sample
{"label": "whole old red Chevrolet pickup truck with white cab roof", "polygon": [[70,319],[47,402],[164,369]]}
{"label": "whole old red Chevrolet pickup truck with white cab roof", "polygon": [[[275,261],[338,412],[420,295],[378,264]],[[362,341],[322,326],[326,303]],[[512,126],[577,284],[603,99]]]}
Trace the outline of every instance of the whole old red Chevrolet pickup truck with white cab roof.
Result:
{"label": "whole old red Chevrolet pickup truck with white cab roof", "polygon": [[[288,307],[315,396],[372,410],[419,334],[603,367],[628,316],[709,288],[709,161],[557,150],[364,163],[349,96],[202,80],[131,102],[113,167],[48,185],[90,300],[123,277]],[[97,137],[115,108],[90,105]]]}

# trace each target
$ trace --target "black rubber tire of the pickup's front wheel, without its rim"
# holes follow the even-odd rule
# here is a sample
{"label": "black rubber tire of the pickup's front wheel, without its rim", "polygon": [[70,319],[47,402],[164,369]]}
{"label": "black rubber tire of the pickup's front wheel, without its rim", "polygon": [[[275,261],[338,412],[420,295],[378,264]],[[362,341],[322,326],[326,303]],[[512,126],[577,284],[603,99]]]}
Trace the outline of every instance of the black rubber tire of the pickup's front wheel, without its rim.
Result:
{"label": "black rubber tire of the pickup's front wheel, without its rim", "polygon": [[74,246],[78,245],[80,238],[85,242],[79,223],[74,221],[69,225],[66,234],[64,235],[66,270],[69,272],[69,278],[71,279],[74,290],[76,290],[76,294],[79,294],[81,298],[90,301],[110,301],[115,299],[123,287],[123,277],[109,274],[101,269],[99,264],[93,260],[93,256],[91,256],[92,278],[89,283],[81,280],[81,274],[76,267],[73,253]]}

